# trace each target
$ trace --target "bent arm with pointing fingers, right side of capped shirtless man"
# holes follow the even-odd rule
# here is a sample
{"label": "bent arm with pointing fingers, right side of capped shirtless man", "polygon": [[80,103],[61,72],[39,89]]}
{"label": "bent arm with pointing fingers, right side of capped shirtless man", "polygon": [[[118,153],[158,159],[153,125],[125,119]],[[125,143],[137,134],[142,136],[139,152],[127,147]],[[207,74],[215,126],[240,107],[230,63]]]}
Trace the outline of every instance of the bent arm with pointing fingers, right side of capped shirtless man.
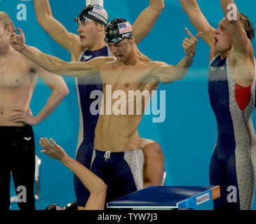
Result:
{"label": "bent arm with pointing fingers, right side of capped shirtless man", "polygon": [[161,83],[168,84],[175,80],[181,80],[184,78],[193,62],[196,52],[196,43],[201,32],[194,37],[187,28],[186,31],[187,34],[189,34],[190,39],[186,37],[182,43],[185,57],[179,62],[179,64],[177,64],[177,66],[159,64],[159,66],[152,72],[152,76],[159,78]]}

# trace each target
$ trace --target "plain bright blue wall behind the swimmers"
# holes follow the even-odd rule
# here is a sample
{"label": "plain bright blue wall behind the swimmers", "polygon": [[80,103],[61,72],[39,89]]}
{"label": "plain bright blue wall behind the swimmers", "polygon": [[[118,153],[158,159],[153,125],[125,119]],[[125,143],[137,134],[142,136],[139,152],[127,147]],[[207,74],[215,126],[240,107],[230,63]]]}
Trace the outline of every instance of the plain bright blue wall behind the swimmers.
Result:
{"label": "plain bright blue wall behind the swimmers", "polygon": [[[53,16],[68,31],[77,33],[74,17],[85,5],[85,0],[50,0]],[[27,6],[27,20],[17,20],[17,5]],[[156,22],[154,29],[140,43],[140,50],[153,60],[177,64],[184,57],[182,41],[187,33],[184,27],[196,34],[187,15],[178,1],[166,0],[166,8]],[[219,1],[198,0],[201,10],[213,27],[224,17]],[[238,9],[247,14],[256,24],[255,1],[236,0]],[[131,23],[140,12],[149,5],[149,0],[105,0],[109,20],[116,17],[128,19]],[[22,28],[28,45],[41,51],[70,61],[69,53],[52,41],[39,26],[34,15],[33,1],[0,0],[0,10],[11,16],[16,27]],[[255,42],[253,42],[255,45]],[[217,137],[215,116],[210,108],[207,76],[208,45],[198,42],[194,64],[184,80],[170,85],[160,85],[159,90],[166,90],[166,120],[164,123],[152,123],[151,116],[144,116],[139,127],[142,137],[159,141],[165,154],[165,167],[168,172],[166,185],[170,186],[208,186],[208,168]],[[34,127],[36,153],[41,151],[40,137],[51,137],[65,151],[75,157],[79,130],[79,107],[76,99],[74,78],[66,78],[70,93],[43,123]],[[36,85],[30,105],[34,115],[46,104],[50,90],[41,79]],[[149,131],[151,130],[151,131]],[[40,154],[40,153],[39,153]],[[42,209],[48,204],[60,206],[75,200],[73,174],[60,162],[40,155],[41,165],[41,200]],[[12,190],[13,191],[13,190]],[[254,203],[253,209],[256,208]],[[13,207],[14,208],[14,207]],[[211,207],[208,207],[211,208]]]}

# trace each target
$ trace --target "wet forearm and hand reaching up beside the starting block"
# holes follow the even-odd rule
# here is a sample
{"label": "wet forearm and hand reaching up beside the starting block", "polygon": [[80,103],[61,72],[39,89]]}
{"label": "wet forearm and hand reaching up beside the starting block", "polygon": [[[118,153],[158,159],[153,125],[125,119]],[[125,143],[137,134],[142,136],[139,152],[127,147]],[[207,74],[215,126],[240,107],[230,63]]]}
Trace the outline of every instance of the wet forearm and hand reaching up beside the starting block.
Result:
{"label": "wet forearm and hand reaching up beside the starting block", "polygon": [[[50,142],[51,141],[51,142]],[[106,184],[98,176],[90,172],[89,169],[81,165],[76,160],[67,155],[67,153],[55,143],[53,139],[50,141],[46,138],[40,139],[40,144],[43,147],[41,153],[45,153],[50,158],[59,160],[70,169],[76,176],[79,177],[84,186],[90,191],[90,197],[86,203],[87,210],[100,210],[105,207],[105,197],[107,193]]]}

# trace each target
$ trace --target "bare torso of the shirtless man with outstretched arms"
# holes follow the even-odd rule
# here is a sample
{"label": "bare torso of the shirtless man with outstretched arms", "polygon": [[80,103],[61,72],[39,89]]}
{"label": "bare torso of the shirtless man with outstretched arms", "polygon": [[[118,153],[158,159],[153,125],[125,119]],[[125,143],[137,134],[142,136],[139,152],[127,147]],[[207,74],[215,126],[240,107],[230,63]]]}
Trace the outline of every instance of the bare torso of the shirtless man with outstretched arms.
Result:
{"label": "bare torso of the shirtless man with outstretched arms", "polygon": [[[139,102],[135,97],[129,98],[128,93],[136,90],[143,93],[146,90],[144,93],[148,93],[148,100],[150,100],[151,90],[156,90],[159,85],[159,81],[151,76],[151,71],[155,68],[154,62],[137,62],[135,66],[114,62],[101,69],[104,100],[102,100],[101,114],[95,129],[97,150],[119,152],[141,148],[137,127],[145,109],[144,97],[139,97],[142,99],[142,102]],[[110,98],[107,99],[109,96]],[[109,103],[110,100],[111,103]],[[111,105],[110,110],[108,105]],[[136,114],[136,109],[139,109],[139,114]]]}

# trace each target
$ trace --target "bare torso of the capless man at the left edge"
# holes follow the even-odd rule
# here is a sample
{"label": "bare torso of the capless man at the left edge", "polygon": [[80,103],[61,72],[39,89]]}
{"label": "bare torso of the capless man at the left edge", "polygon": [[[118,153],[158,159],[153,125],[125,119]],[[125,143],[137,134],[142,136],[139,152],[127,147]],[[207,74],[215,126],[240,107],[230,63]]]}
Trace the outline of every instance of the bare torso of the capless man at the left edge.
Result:
{"label": "bare torso of the capless man at the left edge", "polygon": [[23,126],[10,116],[13,109],[28,109],[38,76],[18,52],[3,59],[0,66],[0,126]]}

